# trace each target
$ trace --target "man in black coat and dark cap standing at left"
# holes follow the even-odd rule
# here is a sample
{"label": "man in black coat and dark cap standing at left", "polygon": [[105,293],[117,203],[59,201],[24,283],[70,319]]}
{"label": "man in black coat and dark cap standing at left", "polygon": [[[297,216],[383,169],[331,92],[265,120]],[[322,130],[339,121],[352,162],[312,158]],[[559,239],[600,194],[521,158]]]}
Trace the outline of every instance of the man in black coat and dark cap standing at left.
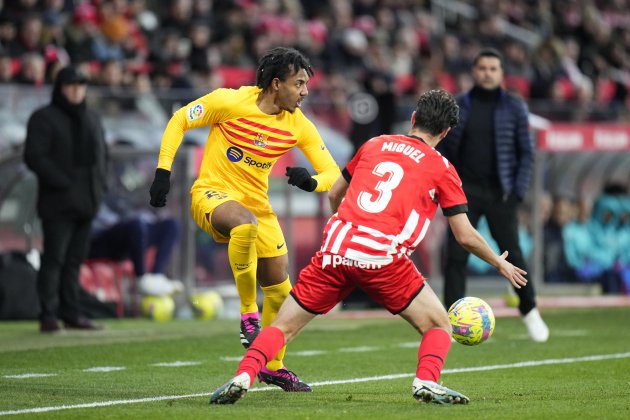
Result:
{"label": "man in black coat and dark cap standing at left", "polygon": [[37,278],[40,331],[100,329],[81,313],[79,269],[105,191],[107,151],[98,115],[86,108],[87,79],[59,71],[49,105],[28,121],[24,161],[35,172],[44,250]]}

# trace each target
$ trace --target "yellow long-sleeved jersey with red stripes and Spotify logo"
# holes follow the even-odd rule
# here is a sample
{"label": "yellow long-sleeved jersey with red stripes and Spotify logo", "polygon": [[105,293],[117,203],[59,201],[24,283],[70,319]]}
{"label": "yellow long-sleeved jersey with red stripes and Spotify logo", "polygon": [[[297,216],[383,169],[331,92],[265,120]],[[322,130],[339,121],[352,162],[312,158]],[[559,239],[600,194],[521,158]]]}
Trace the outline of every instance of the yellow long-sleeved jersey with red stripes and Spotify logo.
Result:
{"label": "yellow long-sleeved jersey with red stripes and Spotify logo", "polygon": [[211,126],[193,191],[236,191],[243,204],[271,209],[269,173],[295,146],[317,171],[315,191],[328,191],[341,172],[315,125],[299,108],[265,114],[256,105],[261,92],[256,86],[221,88],[176,111],[162,137],[158,168],[171,170],[186,130]]}

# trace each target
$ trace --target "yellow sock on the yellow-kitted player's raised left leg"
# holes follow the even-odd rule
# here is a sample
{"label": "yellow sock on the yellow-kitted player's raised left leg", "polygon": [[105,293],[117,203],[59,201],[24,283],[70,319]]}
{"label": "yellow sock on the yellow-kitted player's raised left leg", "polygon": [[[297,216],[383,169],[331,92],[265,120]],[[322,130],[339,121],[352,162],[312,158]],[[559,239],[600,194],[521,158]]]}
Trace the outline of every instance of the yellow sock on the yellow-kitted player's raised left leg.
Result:
{"label": "yellow sock on the yellow-kitted player's raised left leg", "polygon": [[258,312],[256,304],[256,236],[258,226],[239,225],[230,231],[228,258],[241,299],[241,313]]}

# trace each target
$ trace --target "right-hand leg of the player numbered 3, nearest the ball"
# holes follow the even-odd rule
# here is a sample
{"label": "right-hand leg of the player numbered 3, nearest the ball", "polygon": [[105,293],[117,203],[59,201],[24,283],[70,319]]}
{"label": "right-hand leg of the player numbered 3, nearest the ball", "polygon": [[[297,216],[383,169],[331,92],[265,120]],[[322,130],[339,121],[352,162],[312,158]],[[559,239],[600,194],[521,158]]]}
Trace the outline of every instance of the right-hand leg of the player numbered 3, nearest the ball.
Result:
{"label": "right-hand leg of the player numbered 3, nearest the ball", "polygon": [[425,283],[422,291],[400,313],[423,336],[412,395],[421,402],[467,404],[468,397],[437,383],[451,348],[451,326],[446,309]]}

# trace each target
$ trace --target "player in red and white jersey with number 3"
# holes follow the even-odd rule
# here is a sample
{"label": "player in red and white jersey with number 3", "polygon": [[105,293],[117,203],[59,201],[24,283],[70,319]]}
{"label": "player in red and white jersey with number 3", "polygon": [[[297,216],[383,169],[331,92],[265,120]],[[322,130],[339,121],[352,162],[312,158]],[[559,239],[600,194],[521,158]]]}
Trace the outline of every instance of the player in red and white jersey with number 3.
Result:
{"label": "player in red and white jersey with number 3", "polygon": [[434,148],[457,125],[459,108],[442,90],[420,96],[408,135],[382,135],[357,151],[332,186],[335,214],[321,250],[299,275],[278,316],[245,353],[236,376],[214,391],[211,403],[232,404],[253,384],[268,360],[318,314],[330,311],[356,287],[420,334],[412,395],[418,401],[466,404],[469,399],[437,383],[451,346],[446,309],[409,255],[422,241],[438,205],[459,243],[514,287],[525,271],[496,255],[472,227],[455,168]]}

